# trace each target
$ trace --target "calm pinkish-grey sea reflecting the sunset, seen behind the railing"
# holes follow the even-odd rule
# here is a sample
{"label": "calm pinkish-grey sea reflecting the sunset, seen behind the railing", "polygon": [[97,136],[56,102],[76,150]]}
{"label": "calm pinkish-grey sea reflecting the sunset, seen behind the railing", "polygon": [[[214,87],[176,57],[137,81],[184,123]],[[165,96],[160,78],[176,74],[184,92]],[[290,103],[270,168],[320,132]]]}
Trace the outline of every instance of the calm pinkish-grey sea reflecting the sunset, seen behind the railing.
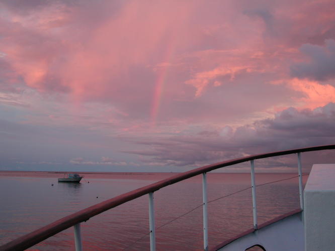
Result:
{"label": "calm pinkish-grey sea reflecting the sunset, seen behind the railing", "polygon": [[[0,244],[80,209],[170,177],[172,173],[83,174],[79,184],[58,183],[62,174],[0,172]],[[257,185],[296,176],[256,174]],[[250,186],[247,173],[209,173],[208,200]],[[307,176],[304,176],[306,180]],[[53,186],[52,186],[53,184]],[[202,204],[202,177],[154,193],[160,227]],[[299,208],[297,178],[257,187],[259,224]],[[209,247],[253,227],[251,190],[208,204]],[[81,224],[85,250],[149,250],[148,196],[142,196]],[[202,207],[156,230],[157,250],[202,250]],[[29,250],[74,250],[73,228]],[[143,237],[144,236],[144,237]]]}

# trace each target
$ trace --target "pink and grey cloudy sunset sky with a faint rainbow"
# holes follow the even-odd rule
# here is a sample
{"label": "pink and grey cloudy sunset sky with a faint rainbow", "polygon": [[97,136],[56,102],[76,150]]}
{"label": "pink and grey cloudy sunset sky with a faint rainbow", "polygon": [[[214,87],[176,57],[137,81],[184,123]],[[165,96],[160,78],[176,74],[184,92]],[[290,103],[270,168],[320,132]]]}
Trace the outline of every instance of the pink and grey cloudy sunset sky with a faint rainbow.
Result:
{"label": "pink and grey cloudy sunset sky with a faint rainbow", "polygon": [[[334,13],[332,0],[2,0],[0,170],[182,172],[334,144]],[[303,154],[304,169],[334,156]]]}

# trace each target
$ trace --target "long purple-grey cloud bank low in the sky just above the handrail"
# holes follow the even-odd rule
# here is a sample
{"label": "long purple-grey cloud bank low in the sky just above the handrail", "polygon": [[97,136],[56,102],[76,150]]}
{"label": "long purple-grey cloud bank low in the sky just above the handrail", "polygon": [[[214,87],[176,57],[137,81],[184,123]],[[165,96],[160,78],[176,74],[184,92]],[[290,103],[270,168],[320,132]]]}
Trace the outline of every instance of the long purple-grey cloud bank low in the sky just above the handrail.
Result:
{"label": "long purple-grey cloud bank low in the sky just above the handrail", "polygon": [[[334,122],[335,103],[314,110],[299,111],[291,107],[274,118],[258,120],[234,132],[226,127],[212,133],[181,133],[156,141],[142,139],[136,144],[146,146],[143,150],[127,153],[140,155],[143,162],[156,165],[205,165],[244,155],[334,144]],[[273,166],[282,164],[281,161],[272,163]]]}

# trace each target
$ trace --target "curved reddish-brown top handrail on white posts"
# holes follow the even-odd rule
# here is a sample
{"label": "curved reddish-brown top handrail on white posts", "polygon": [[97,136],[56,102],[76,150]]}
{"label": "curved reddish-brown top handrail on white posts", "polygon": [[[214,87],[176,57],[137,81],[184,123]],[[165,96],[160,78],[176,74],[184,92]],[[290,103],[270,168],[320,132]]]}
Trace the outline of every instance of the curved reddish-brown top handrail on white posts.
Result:
{"label": "curved reddish-brown top handrail on white posts", "polygon": [[285,151],[272,152],[272,153],[250,155],[247,157],[223,161],[223,162],[215,163],[212,165],[200,167],[200,168],[197,168],[191,171],[187,171],[181,174],[177,174],[170,178],[166,178],[164,180],[155,182],[153,184],[135,189],[128,193],[121,194],[109,200],[105,200],[101,203],[98,203],[96,205],[90,206],[78,212],[72,213],[68,216],[65,216],[64,218],[56,220],[44,227],[41,227],[33,232],[30,232],[26,235],[23,235],[15,240],[12,240],[0,246],[0,251],[24,250],[77,223],[87,221],[91,217],[97,214],[100,214],[106,210],[119,206],[125,202],[136,199],[138,197],[141,197],[145,194],[157,191],[160,188],[175,184],[179,181],[189,179],[191,177],[197,176],[202,173],[207,173],[215,169],[219,169],[222,167],[231,166],[231,165],[235,165],[235,164],[239,164],[239,163],[243,163],[243,162],[247,162],[251,160],[264,159],[268,157],[282,156],[282,155],[295,154],[295,153],[312,152],[312,151],[320,151],[320,150],[331,150],[331,149],[335,149],[335,145],[315,146],[315,147],[285,150]]}

